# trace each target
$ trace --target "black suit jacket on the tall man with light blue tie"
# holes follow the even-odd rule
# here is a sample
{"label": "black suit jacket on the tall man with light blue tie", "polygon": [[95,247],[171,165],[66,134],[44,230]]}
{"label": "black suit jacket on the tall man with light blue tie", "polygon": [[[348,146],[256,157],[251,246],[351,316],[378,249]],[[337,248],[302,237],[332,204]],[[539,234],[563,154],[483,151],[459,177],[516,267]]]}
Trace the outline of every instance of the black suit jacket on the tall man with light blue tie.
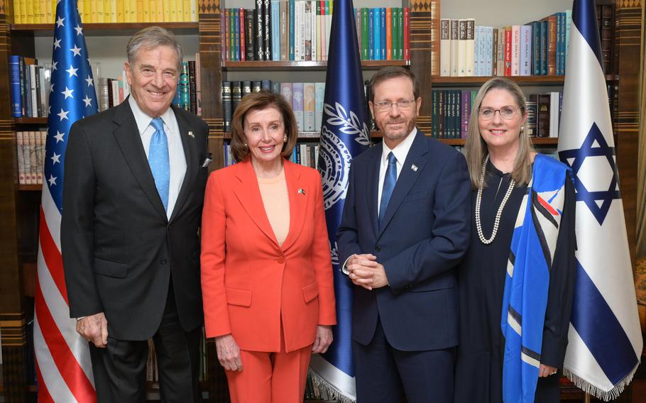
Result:
{"label": "black suit jacket on the tall man with light blue tie", "polygon": [[182,328],[202,324],[198,228],[209,130],[197,116],[173,111],[187,167],[170,220],[127,99],[70,130],[61,222],[70,316],[104,312],[114,338],[153,336],[170,278]]}

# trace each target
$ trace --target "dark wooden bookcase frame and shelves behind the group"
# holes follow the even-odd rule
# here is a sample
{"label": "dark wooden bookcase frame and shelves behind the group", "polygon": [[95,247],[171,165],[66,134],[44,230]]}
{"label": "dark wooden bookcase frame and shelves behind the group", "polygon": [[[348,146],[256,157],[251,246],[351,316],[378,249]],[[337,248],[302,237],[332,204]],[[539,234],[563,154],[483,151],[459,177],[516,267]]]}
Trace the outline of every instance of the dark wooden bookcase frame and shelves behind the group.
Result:
{"label": "dark wooden bookcase frame and shelves behind the group", "polygon": [[[615,84],[615,146],[617,151],[620,189],[623,195],[630,251],[634,257],[637,192],[637,133],[638,133],[638,79],[640,72],[640,35],[643,0],[616,0],[615,3],[615,74],[608,77]],[[437,77],[431,74],[431,50],[439,55],[439,9],[434,21],[431,0],[403,0],[411,12],[411,57],[403,61],[366,61],[363,68],[377,70],[383,65],[408,65],[420,79],[422,103],[418,126],[427,133],[431,128],[431,90],[433,87],[478,87],[485,77]],[[436,3],[437,4],[437,3]],[[202,118],[211,129],[209,151],[213,167],[224,162],[224,133],[221,82],[227,72],[283,70],[288,72],[320,70],[325,62],[223,62],[220,49],[220,12],[224,2],[199,0],[198,23],[164,23],[175,33],[198,35],[202,64]],[[565,8],[565,7],[564,7]],[[0,331],[2,343],[2,377],[5,402],[28,402],[34,399],[35,388],[28,385],[26,358],[33,352],[27,348],[27,322],[33,316],[28,304],[33,290],[35,256],[38,253],[38,211],[40,185],[18,186],[15,132],[25,128],[46,125],[45,119],[11,117],[9,99],[9,55],[33,55],[34,36],[50,35],[51,26],[12,25],[13,0],[0,0]],[[537,16],[539,17],[539,16]],[[131,35],[154,24],[150,23],[96,23],[84,24],[86,35]],[[124,55],[125,57],[125,55]],[[531,86],[560,85],[562,77],[517,77],[520,84]],[[34,129],[32,129],[34,130]],[[378,137],[378,133],[375,133]],[[301,138],[317,138],[317,133],[300,133]],[[461,145],[463,140],[443,140]],[[555,145],[555,139],[537,139],[535,143]],[[207,342],[207,376],[203,386],[209,392],[209,401],[226,402],[229,394],[215,346]]]}

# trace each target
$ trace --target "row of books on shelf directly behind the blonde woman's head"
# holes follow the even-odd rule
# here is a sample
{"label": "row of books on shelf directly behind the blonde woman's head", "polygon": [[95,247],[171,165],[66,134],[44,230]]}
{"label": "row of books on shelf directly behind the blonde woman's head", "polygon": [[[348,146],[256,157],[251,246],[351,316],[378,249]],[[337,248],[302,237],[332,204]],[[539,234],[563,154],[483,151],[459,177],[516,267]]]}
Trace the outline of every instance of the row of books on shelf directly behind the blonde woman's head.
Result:
{"label": "row of books on shelf directly behind the blonde woman's head", "polygon": [[[475,90],[434,89],[431,92],[431,133],[433,138],[466,138]],[[559,136],[562,92],[529,94],[525,131],[530,137]]]}

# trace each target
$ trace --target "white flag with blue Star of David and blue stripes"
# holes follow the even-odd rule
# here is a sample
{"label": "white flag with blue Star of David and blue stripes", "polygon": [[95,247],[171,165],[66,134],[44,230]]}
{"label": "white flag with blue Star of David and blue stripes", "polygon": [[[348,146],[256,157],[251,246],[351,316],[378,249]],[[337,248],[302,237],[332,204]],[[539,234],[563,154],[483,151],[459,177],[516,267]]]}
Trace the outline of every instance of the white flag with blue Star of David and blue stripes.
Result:
{"label": "white flag with blue Star of David and blue stripes", "polygon": [[608,401],[633,379],[643,341],[593,0],[574,0],[559,133],[559,158],[575,175],[578,246],[564,373]]}

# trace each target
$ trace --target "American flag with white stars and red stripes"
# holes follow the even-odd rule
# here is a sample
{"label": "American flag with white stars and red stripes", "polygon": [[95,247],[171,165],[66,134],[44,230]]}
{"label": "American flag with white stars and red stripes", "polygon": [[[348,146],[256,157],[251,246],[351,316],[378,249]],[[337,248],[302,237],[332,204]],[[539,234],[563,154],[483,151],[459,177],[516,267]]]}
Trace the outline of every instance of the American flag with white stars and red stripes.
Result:
{"label": "American flag with white stars and red stripes", "polygon": [[70,319],[60,255],[67,135],[72,123],[98,112],[75,0],[58,1],[52,52],[33,326],[38,402],[95,402],[88,343],[76,333],[75,319]]}

